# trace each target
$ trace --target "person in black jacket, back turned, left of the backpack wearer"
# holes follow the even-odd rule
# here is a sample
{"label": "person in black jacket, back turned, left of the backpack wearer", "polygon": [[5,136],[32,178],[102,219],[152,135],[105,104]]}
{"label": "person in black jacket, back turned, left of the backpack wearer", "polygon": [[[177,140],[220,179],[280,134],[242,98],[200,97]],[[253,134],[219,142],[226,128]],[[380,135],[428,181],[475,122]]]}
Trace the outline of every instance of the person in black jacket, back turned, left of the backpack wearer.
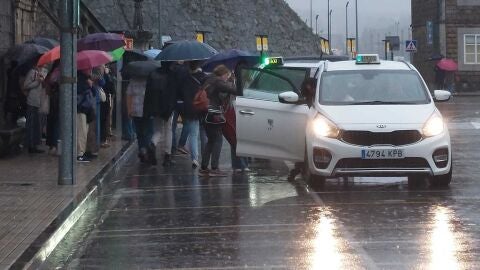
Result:
{"label": "person in black jacket, back turned, left of the backpack wearer", "polygon": [[[170,73],[171,65],[163,62],[162,67],[153,71],[147,80],[143,114],[147,117],[160,118],[160,136],[165,139],[164,159],[162,165],[173,165],[172,160],[172,119],[176,104],[176,85]],[[156,140],[154,140],[156,141]]]}

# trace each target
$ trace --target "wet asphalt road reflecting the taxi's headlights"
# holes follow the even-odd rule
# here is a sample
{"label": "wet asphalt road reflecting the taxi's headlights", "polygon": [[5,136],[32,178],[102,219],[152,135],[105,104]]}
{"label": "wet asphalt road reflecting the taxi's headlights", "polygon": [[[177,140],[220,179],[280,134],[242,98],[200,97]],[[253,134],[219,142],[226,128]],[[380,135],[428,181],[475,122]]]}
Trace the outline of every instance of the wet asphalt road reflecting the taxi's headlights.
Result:
{"label": "wet asphalt road reflecting the taxi's headlights", "polygon": [[186,157],[169,170],[133,157],[44,268],[479,269],[479,104],[439,106],[454,149],[447,189],[355,178],[314,190],[262,160],[203,179]]}

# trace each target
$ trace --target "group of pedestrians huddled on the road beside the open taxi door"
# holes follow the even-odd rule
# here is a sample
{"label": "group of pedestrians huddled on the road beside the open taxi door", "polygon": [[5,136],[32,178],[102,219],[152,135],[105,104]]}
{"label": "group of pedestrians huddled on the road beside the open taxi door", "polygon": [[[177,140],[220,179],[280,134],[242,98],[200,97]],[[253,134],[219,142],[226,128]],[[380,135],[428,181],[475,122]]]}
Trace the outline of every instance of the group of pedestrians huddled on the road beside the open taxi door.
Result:
{"label": "group of pedestrians huddled on the road beside the open taxi door", "polygon": [[[247,159],[236,156],[235,76],[224,65],[207,74],[201,64],[162,62],[162,67],[148,76],[130,78],[127,111],[137,136],[138,158],[142,163],[157,165],[157,137],[161,137],[165,142],[160,149],[163,166],[174,165],[175,156],[188,155],[192,168],[198,168],[200,175],[224,176],[226,172],[220,170],[219,159],[225,137],[231,147],[232,169],[248,171]],[[196,106],[202,90],[209,101],[206,110]],[[182,129],[178,137],[180,119]]]}

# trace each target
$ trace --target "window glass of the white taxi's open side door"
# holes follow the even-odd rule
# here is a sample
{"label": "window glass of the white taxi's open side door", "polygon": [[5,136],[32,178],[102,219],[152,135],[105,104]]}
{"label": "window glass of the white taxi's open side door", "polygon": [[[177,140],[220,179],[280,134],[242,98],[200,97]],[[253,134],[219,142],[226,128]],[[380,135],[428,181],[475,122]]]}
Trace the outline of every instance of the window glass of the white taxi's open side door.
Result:
{"label": "window glass of the white taxi's open side door", "polygon": [[[295,87],[283,78],[258,70],[244,70],[243,96],[246,98],[279,102],[278,95],[287,91],[300,89],[305,80],[307,70],[276,68],[269,70],[275,74],[288,78]],[[296,89],[295,89],[296,88]]]}

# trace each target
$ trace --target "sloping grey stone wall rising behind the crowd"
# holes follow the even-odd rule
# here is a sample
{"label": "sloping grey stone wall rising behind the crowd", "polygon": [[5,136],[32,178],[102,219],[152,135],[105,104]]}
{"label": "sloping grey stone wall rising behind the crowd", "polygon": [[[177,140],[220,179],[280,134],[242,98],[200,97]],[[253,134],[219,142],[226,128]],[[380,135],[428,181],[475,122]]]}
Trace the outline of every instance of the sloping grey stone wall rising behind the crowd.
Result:
{"label": "sloping grey stone wall rising behind the crowd", "polygon": [[[133,23],[131,0],[83,0],[109,30],[128,30]],[[269,36],[272,54],[284,56],[320,53],[308,26],[283,0],[158,0],[143,2],[144,29],[158,29],[173,39],[193,39],[195,31],[209,31],[206,42],[222,50],[256,50],[255,34]],[[160,20],[160,21],[159,21]]]}

